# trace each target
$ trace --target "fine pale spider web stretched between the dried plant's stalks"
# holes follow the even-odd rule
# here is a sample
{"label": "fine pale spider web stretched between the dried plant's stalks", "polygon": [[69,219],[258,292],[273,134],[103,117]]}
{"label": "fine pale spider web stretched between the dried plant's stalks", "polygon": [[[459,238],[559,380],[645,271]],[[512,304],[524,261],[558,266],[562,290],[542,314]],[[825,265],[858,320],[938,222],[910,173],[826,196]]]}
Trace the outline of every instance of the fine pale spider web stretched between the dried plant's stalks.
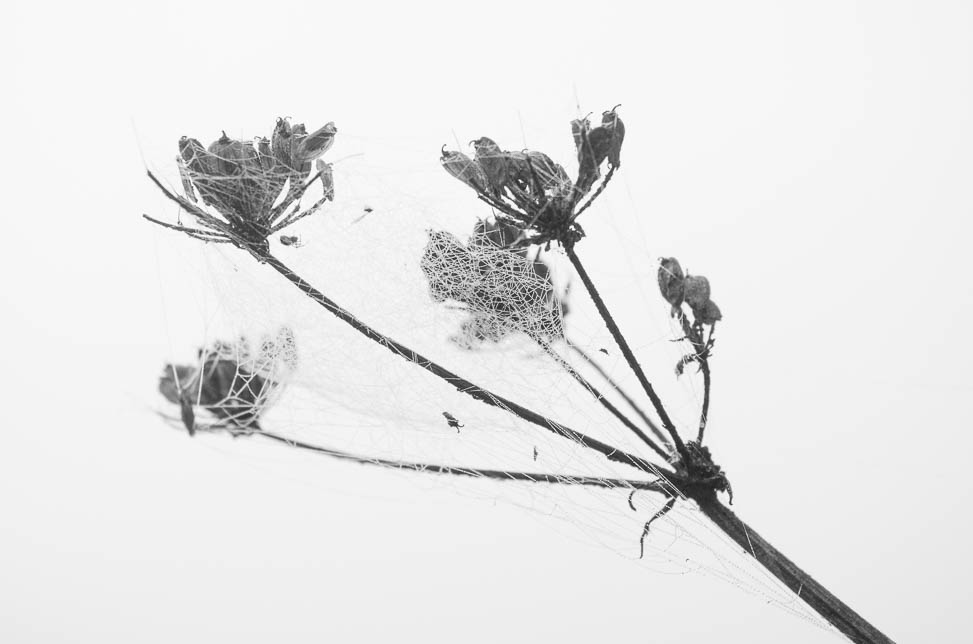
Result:
{"label": "fine pale spider web stretched between the dried plant's stalks", "polygon": [[[536,247],[512,252],[494,243],[490,209],[451,185],[435,158],[427,165],[415,161],[430,156],[427,151],[410,149],[395,160],[396,150],[371,149],[376,144],[365,139],[353,143],[368,153],[334,164],[334,202],[286,231],[300,244],[272,238],[272,252],[359,319],[476,385],[665,465],[560,362],[570,362],[635,418],[599,369],[630,394],[639,393],[638,385],[594,306],[569,288],[573,273],[562,254]],[[377,165],[377,157],[392,160]],[[170,184],[178,181],[169,178]],[[408,185],[415,181],[442,186],[442,192],[414,197]],[[245,338],[220,350],[232,353],[241,371],[273,383],[260,402],[264,431],[386,467],[386,461],[432,463],[543,472],[564,482],[600,479],[601,487],[591,487],[425,475],[469,497],[500,499],[561,519],[571,536],[639,557],[643,526],[666,499],[633,494],[620,479],[652,477],[457,392],[356,333],[244,252],[179,240],[169,243],[164,261],[171,267],[166,281],[192,282],[204,303],[199,346]],[[656,304],[659,318],[668,319],[668,305],[661,298]],[[283,344],[282,330],[289,338]],[[672,380],[671,365],[681,352],[670,340],[679,333],[672,324],[663,336],[634,342],[643,364],[663,365],[659,373]],[[244,348],[269,346],[263,342],[268,337],[276,339],[276,350]],[[173,362],[187,362],[179,357]],[[677,425],[694,427],[699,397],[687,394],[685,385],[667,387],[660,393],[675,401],[669,410]],[[463,427],[450,427],[444,412]],[[327,458],[316,466],[344,472],[349,485],[367,476]],[[402,469],[402,476],[423,476]],[[702,571],[824,625],[690,502],[677,503],[653,523],[644,546],[643,562],[655,570]]]}

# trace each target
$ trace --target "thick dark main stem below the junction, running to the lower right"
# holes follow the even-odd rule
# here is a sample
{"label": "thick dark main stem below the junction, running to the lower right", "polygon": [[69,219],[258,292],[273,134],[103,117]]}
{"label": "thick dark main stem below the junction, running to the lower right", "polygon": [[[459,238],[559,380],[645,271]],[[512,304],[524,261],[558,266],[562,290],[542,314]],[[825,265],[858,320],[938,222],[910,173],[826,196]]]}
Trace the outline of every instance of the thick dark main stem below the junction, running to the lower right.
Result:
{"label": "thick dark main stem below the junction, running to the lower right", "polygon": [[770,574],[790,588],[814,611],[856,644],[892,644],[892,640],[852,610],[828,589],[801,570],[781,551],[770,545],[729,508],[720,503],[715,494],[694,497],[700,509],[737,545],[756,559]]}

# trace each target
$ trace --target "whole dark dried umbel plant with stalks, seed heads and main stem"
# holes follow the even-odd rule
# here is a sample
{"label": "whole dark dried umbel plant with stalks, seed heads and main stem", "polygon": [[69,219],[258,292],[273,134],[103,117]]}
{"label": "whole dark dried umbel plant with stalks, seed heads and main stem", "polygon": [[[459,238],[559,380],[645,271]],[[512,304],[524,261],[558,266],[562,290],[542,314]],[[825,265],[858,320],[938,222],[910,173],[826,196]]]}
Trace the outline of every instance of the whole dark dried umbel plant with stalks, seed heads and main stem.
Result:
{"label": "whole dark dried umbel plant with stalks, seed heads and main stem", "polygon": [[[257,139],[254,143],[243,143],[224,135],[204,149],[194,139],[184,138],[179,143],[178,161],[184,194],[176,195],[151,174],[150,177],[166,197],[179,204],[200,227],[149,219],[204,242],[229,243],[249,252],[337,319],[412,363],[418,370],[434,375],[463,395],[620,463],[632,474],[627,478],[565,476],[545,471],[481,469],[378,458],[276,434],[259,421],[268,395],[278,388],[275,374],[297,359],[293,338],[286,333],[274,342],[266,343],[256,355],[239,346],[228,348],[230,345],[217,344],[200,352],[197,366],[170,365],[166,368],[160,389],[170,402],[180,406],[182,422],[190,433],[200,429],[242,433],[333,458],[385,468],[539,485],[620,488],[629,491],[630,505],[636,492],[650,492],[659,495],[663,504],[644,523],[642,547],[653,522],[670,512],[677,502],[692,501],[725,535],[849,639],[855,642],[890,641],[721,502],[721,495],[725,495],[732,503],[730,482],[703,444],[709,415],[713,331],[722,318],[719,307],[711,299],[709,281],[684,272],[675,258],[664,258],[660,262],[660,294],[682,329],[683,337],[677,340],[687,342],[689,346],[689,351],[679,360],[676,372],[681,375],[687,366],[695,364],[703,374],[704,398],[698,431],[694,438],[687,440],[677,430],[582,264],[576,247],[584,238],[584,231],[577,220],[605,190],[621,166],[625,126],[617,106],[605,111],[601,123],[595,127],[587,118],[571,123],[578,163],[574,180],[547,154],[532,150],[506,151],[488,137],[471,142],[473,157],[444,148],[443,167],[472,188],[481,201],[489,204],[495,219],[481,220],[465,241],[445,231],[428,231],[420,266],[430,297],[441,306],[460,307],[469,316],[454,341],[471,348],[476,343],[501,342],[512,335],[528,338],[580,383],[621,426],[637,437],[638,443],[648,450],[647,456],[572,429],[553,420],[547,413],[519,404],[451,371],[379,332],[317,290],[271,253],[267,243],[270,235],[317,212],[325,201],[334,198],[330,166],[319,157],[331,147],[335,133],[336,128],[329,123],[308,135],[303,126],[291,127],[281,119],[270,141]],[[318,161],[313,175],[312,161]],[[305,191],[317,180],[323,184],[323,196],[301,210]],[[292,236],[288,239],[291,244],[297,241]],[[641,409],[635,396],[625,393],[625,400],[636,411],[642,424],[629,419],[557,353],[555,345],[566,342],[567,311],[565,293],[555,287],[541,257],[541,249],[549,249],[552,244],[563,248],[577,278],[638,380],[657,421]],[[590,357],[583,357],[593,362]],[[608,379],[608,382],[613,389],[621,391],[614,381]],[[200,411],[209,412],[215,420],[205,425],[197,423],[195,416]],[[448,411],[442,415],[450,428],[460,431],[464,427]],[[537,458],[536,448],[534,458]],[[632,509],[635,509],[634,505]]]}

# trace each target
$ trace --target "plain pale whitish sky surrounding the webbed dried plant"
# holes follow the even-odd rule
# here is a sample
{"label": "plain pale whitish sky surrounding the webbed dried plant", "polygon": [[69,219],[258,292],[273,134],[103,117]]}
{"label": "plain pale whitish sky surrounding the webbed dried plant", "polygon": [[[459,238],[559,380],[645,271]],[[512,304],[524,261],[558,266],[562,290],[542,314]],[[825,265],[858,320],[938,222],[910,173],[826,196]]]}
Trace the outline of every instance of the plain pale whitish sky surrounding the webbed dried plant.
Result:
{"label": "plain pale whitish sky surrounding the webbed dried plant", "polygon": [[334,120],[428,148],[425,177],[453,131],[566,136],[579,99],[622,103],[629,129],[588,261],[624,289],[650,271],[620,256],[699,258],[733,311],[710,440],[736,510],[896,641],[963,640],[968,3],[0,12],[0,639],[838,641],[529,512],[328,462],[295,477],[152,411],[159,367],[198,342],[177,242],[139,217],[179,136]]}

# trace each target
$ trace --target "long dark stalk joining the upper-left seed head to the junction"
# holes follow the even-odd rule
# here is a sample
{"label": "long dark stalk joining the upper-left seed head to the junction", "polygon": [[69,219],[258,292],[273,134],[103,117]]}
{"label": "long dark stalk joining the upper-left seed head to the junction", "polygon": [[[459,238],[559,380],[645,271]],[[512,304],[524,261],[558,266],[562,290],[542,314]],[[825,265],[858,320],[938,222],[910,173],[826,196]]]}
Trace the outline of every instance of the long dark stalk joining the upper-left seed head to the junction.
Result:
{"label": "long dark stalk joining the upper-left seed head to the junction", "polygon": [[636,469],[639,469],[648,474],[652,474],[654,476],[658,475],[657,472],[659,471],[659,468],[656,465],[650,463],[649,461],[646,461],[641,457],[635,456],[634,454],[624,452],[616,447],[609,445],[608,443],[599,441],[598,439],[592,438],[591,436],[583,434],[579,431],[570,429],[558,422],[555,422],[545,416],[542,416],[541,414],[538,414],[535,411],[532,411],[530,409],[527,409],[526,407],[518,405],[512,400],[508,400],[506,398],[498,396],[497,394],[494,394],[493,392],[487,389],[479,387],[478,385],[473,384],[469,380],[466,380],[465,378],[458,376],[457,374],[446,369],[445,367],[442,367],[439,364],[433,362],[429,358],[426,358],[425,356],[413,351],[409,347],[399,342],[396,342],[392,338],[382,333],[379,333],[372,327],[368,326],[367,324],[359,320],[350,312],[338,306],[338,304],[336,304],[331,299],[326,297],[321,291],[317,290],[316,288],[308,284],[299,275],[295,274],[290,268],[288,268],[286,264],[284,264],[279,259],[271,255],[269,251],[263,251],[261,253],[260,260],[263,263],[269,265],[271,268],[273,268],[275,271],[277,271],[284,277],[286,277],[287,280],[290,281],[292,284],[294,284],[294,286],[296,286],[298,289],[300,289],[302,293],[304,293],[312,300],[314,300],[315,302],[323,306],[339,320],[345,322],[353,329],[355,329],[356,331],[358,331],[359,333],[367,337],[369,340],[372,340],[373,342],[377,342],[378,344],[385,347],[395,355],[405,358],[409,362],[412,362],[422,367],[426,371],[432,373],[433,375],[438,376],[439,378],[444,380],[447,384],[455,387],[458,391],[468,396],[471,396],[476,400],[479,400],[480,402],[508,411],[514,414],[515,416],[518,416],[543,429],[554,432],[559,436],[563,436],[564,438],[572,440],[580,445],[583,445],[584,447],[587,447],[588,449],[599,452],[611,461],[616,461],[618,463],[624,463],[626,465],[630,465]]}

